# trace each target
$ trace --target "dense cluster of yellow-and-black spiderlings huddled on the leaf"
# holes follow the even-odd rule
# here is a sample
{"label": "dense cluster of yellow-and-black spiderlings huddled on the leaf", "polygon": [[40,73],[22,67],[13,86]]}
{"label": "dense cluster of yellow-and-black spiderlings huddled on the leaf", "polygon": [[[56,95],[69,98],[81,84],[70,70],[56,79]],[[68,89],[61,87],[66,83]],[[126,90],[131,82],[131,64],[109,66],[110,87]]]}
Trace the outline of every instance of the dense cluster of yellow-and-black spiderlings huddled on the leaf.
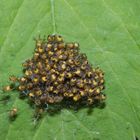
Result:
{"label": "dense cluster of yellow-and-black spiderlings huddled on the leaf", "polygon": [[18,90],[35,106],[64,100],[87,105],[105,99],[104,73],[88,63],[78,43],[65,43],[59,35],[36,39],[33,57],[23,63],[23,76],[11,76],[5,91]]}

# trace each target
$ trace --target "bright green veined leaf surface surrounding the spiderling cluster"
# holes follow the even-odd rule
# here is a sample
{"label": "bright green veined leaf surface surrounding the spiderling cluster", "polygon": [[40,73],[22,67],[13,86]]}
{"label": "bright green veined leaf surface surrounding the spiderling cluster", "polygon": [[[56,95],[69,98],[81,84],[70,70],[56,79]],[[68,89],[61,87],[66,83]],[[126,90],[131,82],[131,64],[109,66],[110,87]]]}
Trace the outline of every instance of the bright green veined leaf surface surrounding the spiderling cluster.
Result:
{"label": "bright green veined leaf surface surrounding the spiderling cluster", "polygon": [[[18,93],[0,104],[2,140],[135,140],[140,139],[140,1],[138,0],[1,0],[0,85],[21,75],[32,56],[33,38],[52,33],[80,43],[94,66],[105,72],[104,109],[63,109],[35,127],[33,109]],[[2,96],[1,92],[1,95]],[[13,122],[8,110],[19,109]]]}

